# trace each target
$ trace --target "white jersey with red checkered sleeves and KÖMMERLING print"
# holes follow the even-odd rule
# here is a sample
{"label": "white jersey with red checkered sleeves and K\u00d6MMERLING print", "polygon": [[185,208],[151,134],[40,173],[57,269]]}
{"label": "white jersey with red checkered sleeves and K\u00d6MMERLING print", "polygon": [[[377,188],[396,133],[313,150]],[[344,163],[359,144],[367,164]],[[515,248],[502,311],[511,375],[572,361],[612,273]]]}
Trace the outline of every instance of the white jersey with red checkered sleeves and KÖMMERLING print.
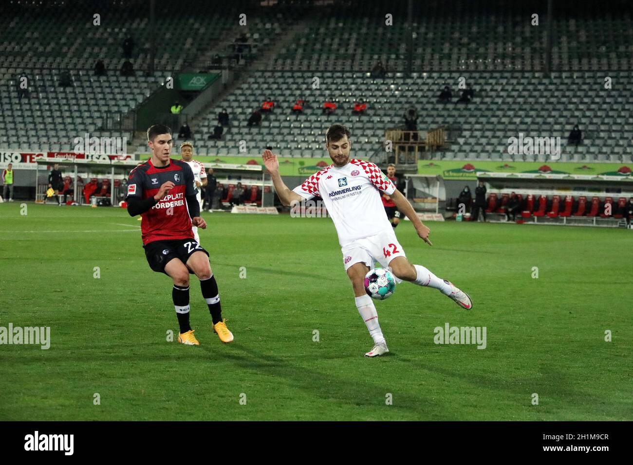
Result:
{"label": "white jersey with red checkered sleeves and K\u00d6MMERLING print", "polygon": [[295,187],[308,200],[318,195],[332,217],[341,247],[356,239],[391,231],[380,192],[391,195],[396,186],[369,161],[351,159],[341,168],[330,164]]}

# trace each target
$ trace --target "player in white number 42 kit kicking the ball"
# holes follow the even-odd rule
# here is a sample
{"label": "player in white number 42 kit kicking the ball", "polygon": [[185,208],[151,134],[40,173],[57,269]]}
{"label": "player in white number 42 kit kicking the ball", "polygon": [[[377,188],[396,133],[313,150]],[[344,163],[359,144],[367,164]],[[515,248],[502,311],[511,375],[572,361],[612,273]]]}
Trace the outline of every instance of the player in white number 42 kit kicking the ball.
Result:
{"label": "player in white number 42 kit kicking the ball", "polygon": [[343,264],[356,296],[356,308],[373,338],[372,350],[365,357],[381,356],[389,352],[380,330],[376,307],[365,292],[365,275],[373,268],[375,261],[384,268],[389,266],[400,280],[439,289],[459,306],[472,309],[473,304],[468,294],[453,283],[438,278],[427,268],[411,264],[406,259],[402,245],[387,220],[380,201],[380,192],[391,195],[398,210],[415,226],[418,236],[427,244],[433,245],[429,240],[430,230],[422,224],[406,197],[396,190],[378,166],[368,161],[349,159],[349,130],[342,125],[332,125],[325,134],[325,140],[332,164],[311,175],[292,190],[288,189],[279,175],[277,155],[266,150],[262,158],[282,204],[291,205],[315,195],[323,199],[339,236]]}

